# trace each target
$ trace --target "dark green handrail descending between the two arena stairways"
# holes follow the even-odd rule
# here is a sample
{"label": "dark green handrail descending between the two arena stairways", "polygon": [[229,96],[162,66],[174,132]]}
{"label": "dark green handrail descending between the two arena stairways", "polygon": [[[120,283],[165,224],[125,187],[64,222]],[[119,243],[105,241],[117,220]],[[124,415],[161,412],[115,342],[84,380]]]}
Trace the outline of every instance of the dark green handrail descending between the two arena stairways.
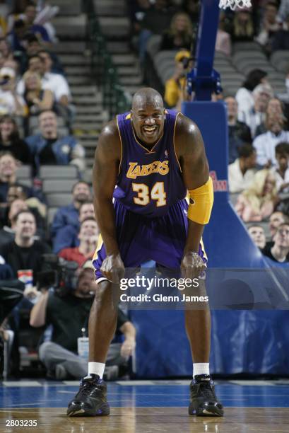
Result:
{"label": "dark green handrail descending between the two arena stairways", "polygon": [[103,96],[104,108],[110,117],[129,110],[130,101],[124,88],[119,83],[117,67],[107,50],[106,40],[102,34],[98,16],[95,13],[93,0],[85,0],[85,12],[88,17],[88,46],[91,52],[91,70],[95,82]]}

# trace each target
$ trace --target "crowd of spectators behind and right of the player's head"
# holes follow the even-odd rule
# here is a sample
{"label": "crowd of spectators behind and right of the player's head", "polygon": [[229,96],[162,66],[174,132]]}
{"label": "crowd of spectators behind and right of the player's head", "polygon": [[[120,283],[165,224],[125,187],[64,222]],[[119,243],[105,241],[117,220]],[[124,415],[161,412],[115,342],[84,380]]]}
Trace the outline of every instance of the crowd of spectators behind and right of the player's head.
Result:
{"label": "crowd of spectators behind and right of the player's head", "polygon": [[[149,58],[150,52],[146,54],[146,46],[153,35],[160,35],[158,51],[172,50],[175,72],[167,79],[163,95],[167,108],[180,110],[182,101],[189,98],[186,74],[194,66],[201,3],[138,0],[128,4],[131,36],[141,67],[147,67],[146,56]],[[276,50],[288,50],[288,0],[256,0],[251,8],[220,11],[216,52],[230,57],[235,42],[257,43],[266,57]],[[288,77],[288,73],[289,68],[284,70],[284,76]],[[288,83],[289,78],[284,82],[287,88]],[[289,107],[276,94],[274,82],[263,69],[249,71],[235,94],[212,96],[212,100],[222,99],[228,113],[228,185],[235,209],[246,224],[264,224],[254,226],[254,233],[261,236],[262,231],[268,238],[269,219],[274,211],[289,216]],[[282,229],[280,236],[271,234],[272,241],[277,236],[276,242],[280,243],[286,237],[285,231]],[[273,255],[276,250],[277,247]],[[268,251],[266,256],[272,259]]]}

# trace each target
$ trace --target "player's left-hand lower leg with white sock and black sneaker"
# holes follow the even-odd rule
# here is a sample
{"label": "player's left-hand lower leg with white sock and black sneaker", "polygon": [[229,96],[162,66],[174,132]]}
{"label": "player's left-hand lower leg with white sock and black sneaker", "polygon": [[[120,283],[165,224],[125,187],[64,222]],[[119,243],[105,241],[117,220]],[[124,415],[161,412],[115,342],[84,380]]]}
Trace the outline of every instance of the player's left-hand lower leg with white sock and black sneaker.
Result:
{"label": "player's left-hand lower leg with white sock and black sneaker", "polygon": [[[89,316],[89,363],[76,396],[69,403],[69,416],[109,415],[107,387],[102,380],[105,359],[117,327],[117,296],[119,287],[107,280],[98,284]],[[95,371],[92,373],[91,371]]]}

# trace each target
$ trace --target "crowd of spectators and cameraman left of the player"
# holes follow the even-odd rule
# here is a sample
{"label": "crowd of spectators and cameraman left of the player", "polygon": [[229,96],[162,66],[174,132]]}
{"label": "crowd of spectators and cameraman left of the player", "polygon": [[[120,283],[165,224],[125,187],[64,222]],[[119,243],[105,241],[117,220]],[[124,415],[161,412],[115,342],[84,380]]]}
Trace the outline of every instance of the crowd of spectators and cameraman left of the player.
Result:
{"label": "crowd of spectators and cameraman left of the player", "polygon": [[[87,359],[78,338],[88,336],[99,229],[91,187],[82,180],[85,151],[71,134],[69,83],[54,52],[50,18],[58,10],[43,1],[0,2],[0,279],[23,283],[23,298],[4,323],[0,317],[0,337],[2,328],[14,333],[8,374],[19,376],[19,353],[28,350],[38,352],[47,377],[80,379]],[[49,221],[41,168],[69,165],[76,173],[71,204]],[[19,177],[21,168],[30,177]],[[33,345],[38,327],[45,332]],[[135,346],[134,326],[120,310],[116,335],[107,377],[125,374]]]}

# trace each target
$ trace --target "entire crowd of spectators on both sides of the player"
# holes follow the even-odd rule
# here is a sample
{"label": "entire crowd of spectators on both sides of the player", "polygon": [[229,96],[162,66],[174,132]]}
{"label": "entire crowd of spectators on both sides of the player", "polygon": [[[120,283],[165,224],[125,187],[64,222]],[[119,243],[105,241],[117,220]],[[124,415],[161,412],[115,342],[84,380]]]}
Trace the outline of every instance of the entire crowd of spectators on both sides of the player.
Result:
{"label": "entire crowd of spectators on both sides of the player", "polygon": [[[153,35],[160,36],[158,50],[174,52],[175,72],[165,85],[164,100],[168,108],[179,109],[188,98],[185,77],[194,64],[191,53],[200,1],[127,3],[131,41],[141,67],[146,68],[146,47]],[[40,4],[23,0],[14,1],[14,9],[10,2],[0,5],[0,278],[20,279],[24,284],[23,300],[13,312],[14,320],[6,325],[17,335],[20,313],[28,312],[32,327],[47,328],[38,351],[47,375],[80,378],[86,373],[87,361],[78,354],[77,340],[83,335],[81,330],[88,328],[88,311],[95,295],[91,258],[99,230],[90,185],[82,180],[85,152],[71,134],[73,100],[54,53],[57,35]],[[49,8],[47,17],[57,9]],[[268,57],[276,50],[288,49],[288,1],[253,1],[250,9],[220,13],[217,52],[229,57],[235,42],[253,41]],[[289,75],[286,83],[289,88]],[[234,95],[212,98],[222,99],[228,113],[228,184],[230,193],[238,195],[236,212],[248,224],[249,236],[266,260],[288,266],[288,106],[278,98],[274,83],[262,69],[249,71]],[[23,164],[31,167],[30,185],[18,179]],[[78,172],[71,204],[57,209],[50,226],[40,176],[43,165],[72,165]],[[76,264],[73,289],[59,296],[57,284],[48,281],[50,259],[43,255],[60,260],[58,266],[60,262]],[[117,333],[124,335],[124,342],[112,347],[108,365],[110,360],[112,365],[123,365],[134,350],[135,330],[122,311]]]}

